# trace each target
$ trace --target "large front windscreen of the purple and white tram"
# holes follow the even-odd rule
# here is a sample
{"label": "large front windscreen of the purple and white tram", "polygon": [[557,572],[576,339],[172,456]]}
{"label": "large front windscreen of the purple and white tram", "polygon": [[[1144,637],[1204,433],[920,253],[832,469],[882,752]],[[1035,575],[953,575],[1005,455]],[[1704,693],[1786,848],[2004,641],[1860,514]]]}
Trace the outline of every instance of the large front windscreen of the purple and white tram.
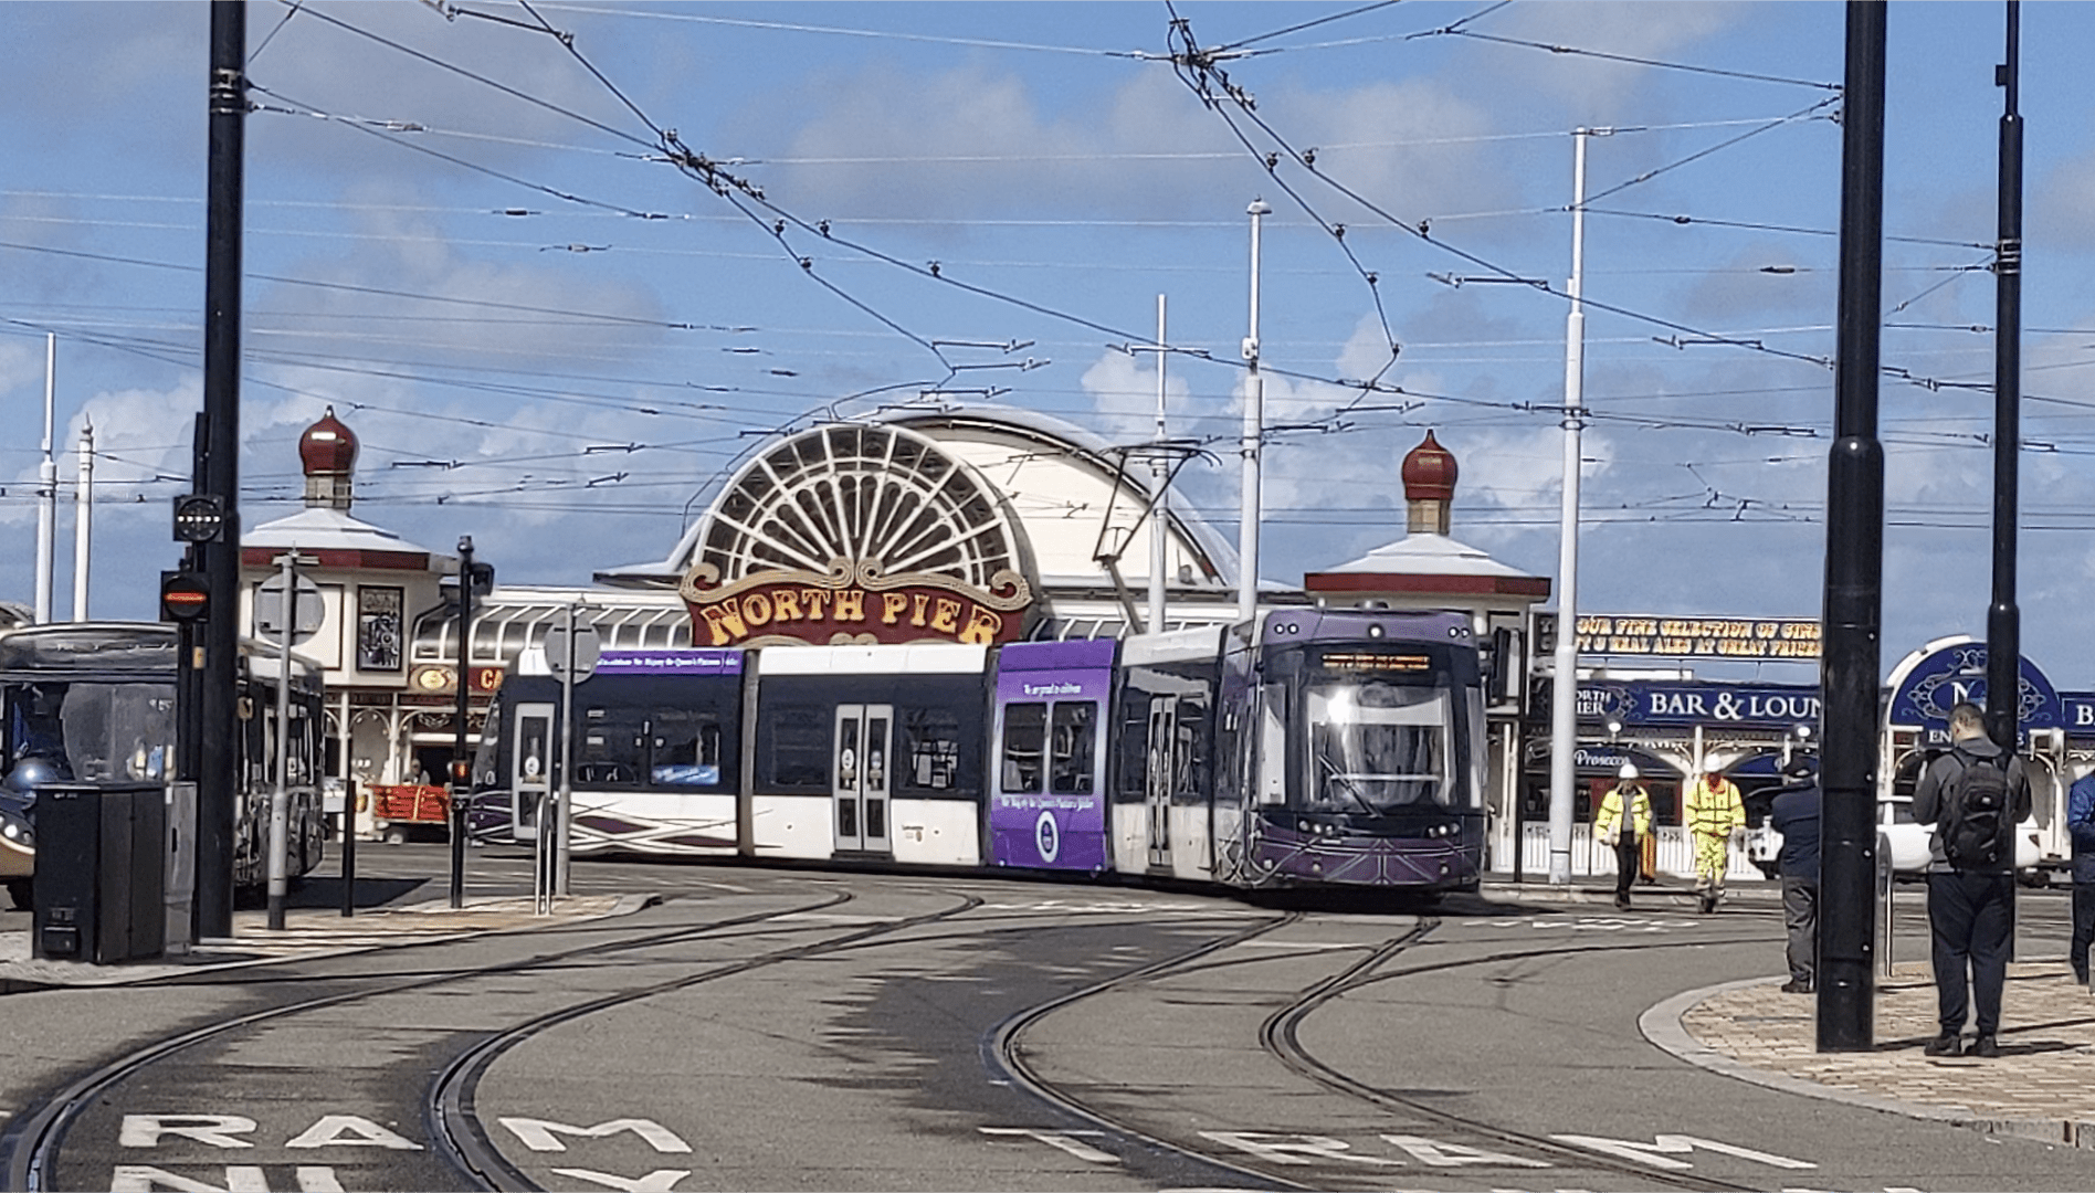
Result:
{"label": "large front windscreen of the purple and white tram", "polygon": [[1387,814],[1454,802],[1454,686],[1425,655],[1328,653],[1303,684],[1305,806]]}

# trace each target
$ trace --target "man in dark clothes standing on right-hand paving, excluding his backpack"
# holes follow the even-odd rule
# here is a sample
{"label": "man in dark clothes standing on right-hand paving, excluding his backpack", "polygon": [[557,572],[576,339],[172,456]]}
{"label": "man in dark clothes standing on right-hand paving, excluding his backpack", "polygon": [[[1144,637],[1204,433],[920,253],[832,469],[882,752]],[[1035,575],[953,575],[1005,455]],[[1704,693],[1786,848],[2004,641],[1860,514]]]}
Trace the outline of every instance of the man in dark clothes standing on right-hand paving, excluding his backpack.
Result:
{"label": "man in dark clothes standing on right-hand paving, excluding his backpack", "polygon": [[[1961,701],[1950,710],[1950,749],[1927,764],[1913,789],[1913,818],[1936,827],[1927,835],[1927,931],[1942,1034],[1927,1042],[1929,1057],[1963,1053],[1967,998],[1978,1003],[1971,1055],[2001,1055],[1994,1034],[2001,1030],[2001,988],[2007,986],[2007,954],[2015,936],[2013,827],[2030,814],[2030,776],[2020,758],[2007,758],[2001,860],[1990,866],[1955,866],[1942,850],[1942,827],[1963,800],[1965,774],[1982,758],[2001,758],[2001,747],[1986,737],[1980,707]],[[1969,992],[1965,965],[1971,967]]]}

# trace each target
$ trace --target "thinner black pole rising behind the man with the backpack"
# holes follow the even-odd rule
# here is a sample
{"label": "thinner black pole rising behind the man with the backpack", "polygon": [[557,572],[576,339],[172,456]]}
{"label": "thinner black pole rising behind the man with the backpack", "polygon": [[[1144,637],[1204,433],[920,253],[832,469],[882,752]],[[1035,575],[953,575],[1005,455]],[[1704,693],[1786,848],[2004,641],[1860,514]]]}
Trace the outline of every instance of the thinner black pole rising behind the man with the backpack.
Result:
{"label": "thinner black pole rising behind the man with the backpack", "polygon": [[1986,609],[1986,733],[2015,749],[2022,697],[2022,609],[2015,607],[2015,504],[2022,463],[2022,4],[2007,0],[2001,105],[2001,245],[1992,331],[1992,607]]}

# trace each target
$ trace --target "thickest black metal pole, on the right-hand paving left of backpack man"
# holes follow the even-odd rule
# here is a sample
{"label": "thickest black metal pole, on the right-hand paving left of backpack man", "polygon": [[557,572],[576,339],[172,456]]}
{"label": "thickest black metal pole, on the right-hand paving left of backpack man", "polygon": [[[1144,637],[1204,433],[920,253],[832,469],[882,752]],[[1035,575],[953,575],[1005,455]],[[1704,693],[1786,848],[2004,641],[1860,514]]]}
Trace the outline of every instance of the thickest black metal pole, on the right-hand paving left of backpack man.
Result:
{"label": "thickest black metal pole, on the right-hand paving left of backpack man", "polygon": [[1818,1051],[1875,1036],[1877,651],[1883,620],[1883,444],[1877,350],[1883,303],[1883,4],[1848,2],[1842,103],[1839,314],[1827,460],[1827,605],[1818,668]]}

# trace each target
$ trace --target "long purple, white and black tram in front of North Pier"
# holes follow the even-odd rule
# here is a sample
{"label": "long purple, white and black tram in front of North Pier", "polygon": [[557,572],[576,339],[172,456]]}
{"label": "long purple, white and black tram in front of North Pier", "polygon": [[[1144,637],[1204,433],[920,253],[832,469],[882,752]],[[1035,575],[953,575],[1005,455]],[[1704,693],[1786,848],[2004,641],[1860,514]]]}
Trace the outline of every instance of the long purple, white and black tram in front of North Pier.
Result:
{"label": "long purple, white and black tram in front of North Pier", "polygon": [[[570,848],[1475,890],[1483,684],[1460,613],[1270,609],[1127,640],[608,651],[574,684]],[[561,684],[505,678],[476,831],[528,841]]]}

